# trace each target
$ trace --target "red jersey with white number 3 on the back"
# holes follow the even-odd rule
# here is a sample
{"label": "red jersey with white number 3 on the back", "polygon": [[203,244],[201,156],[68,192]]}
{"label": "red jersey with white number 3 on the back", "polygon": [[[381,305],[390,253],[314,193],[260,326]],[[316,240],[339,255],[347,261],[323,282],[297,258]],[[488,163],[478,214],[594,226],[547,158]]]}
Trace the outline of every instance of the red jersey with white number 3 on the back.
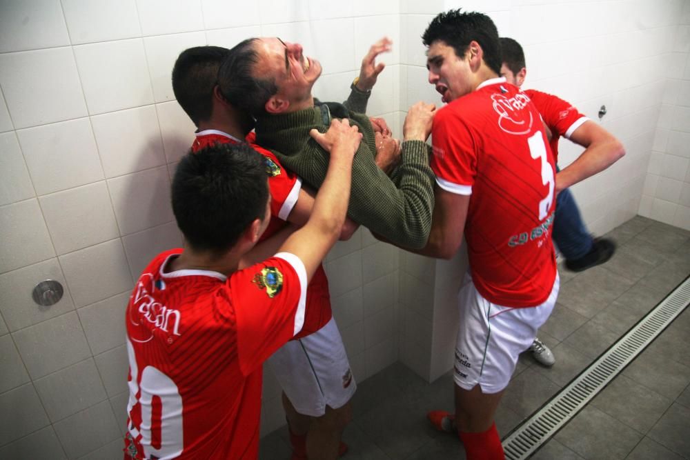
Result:
{"label": "red jersey with white number 3 on the back", "polygon": [[504,78],[484,81],[437,112],[433,152],[438,185],[471,194],[464,235],[477,290],[502,306],[546,301],[556,276],[555,169],[529,98]]}

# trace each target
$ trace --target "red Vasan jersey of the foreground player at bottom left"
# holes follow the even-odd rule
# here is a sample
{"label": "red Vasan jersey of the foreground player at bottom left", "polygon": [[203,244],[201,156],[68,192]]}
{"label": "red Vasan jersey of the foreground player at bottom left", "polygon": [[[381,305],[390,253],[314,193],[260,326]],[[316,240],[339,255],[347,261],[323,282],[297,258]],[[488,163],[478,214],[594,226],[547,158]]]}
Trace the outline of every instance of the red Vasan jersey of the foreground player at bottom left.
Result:
{"label": "red Vasan jersey of the foreground player at bottom left", "polygon": [[144,269],[126,314],[133,459],[256,459],[262,363],[304,321],[306,270],[281,253],[230,277]]}

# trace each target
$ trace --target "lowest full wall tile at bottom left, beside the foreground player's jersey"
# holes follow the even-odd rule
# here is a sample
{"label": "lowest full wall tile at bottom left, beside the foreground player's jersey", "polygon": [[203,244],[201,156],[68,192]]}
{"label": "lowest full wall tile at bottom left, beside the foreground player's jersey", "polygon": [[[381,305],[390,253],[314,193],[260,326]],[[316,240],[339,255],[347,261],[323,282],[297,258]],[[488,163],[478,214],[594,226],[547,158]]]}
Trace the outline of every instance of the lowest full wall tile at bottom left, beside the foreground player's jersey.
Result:
{"label": "lowest full wall tile at bottom left, beside the foreground player's jersey", "polygon": [[70,459],[88,454],[121,437],[109,401],[77,412],[53,425]]}

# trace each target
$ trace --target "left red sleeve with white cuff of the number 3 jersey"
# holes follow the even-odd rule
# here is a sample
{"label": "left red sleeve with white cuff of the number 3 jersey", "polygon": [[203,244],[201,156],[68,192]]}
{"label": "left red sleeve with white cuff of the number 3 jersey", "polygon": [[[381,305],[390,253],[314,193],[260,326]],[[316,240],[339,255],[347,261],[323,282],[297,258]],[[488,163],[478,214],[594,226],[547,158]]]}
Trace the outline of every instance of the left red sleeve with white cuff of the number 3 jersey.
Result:
{"label": "left red sleeve with white cuff of the number 3 jersey", "polygon": [[440,188],[471,194],[477,175],[477,140],[469,127],[446,107],[434,119],[432,136],[431,170]]}

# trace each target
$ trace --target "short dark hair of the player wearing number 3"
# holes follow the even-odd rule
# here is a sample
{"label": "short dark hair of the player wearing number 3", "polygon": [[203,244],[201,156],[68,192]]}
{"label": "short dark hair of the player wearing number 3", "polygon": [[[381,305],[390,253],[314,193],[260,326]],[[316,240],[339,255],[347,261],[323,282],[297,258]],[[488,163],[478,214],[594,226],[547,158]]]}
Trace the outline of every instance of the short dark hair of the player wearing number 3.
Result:
{"label": "short dark hair of the player wearing number 3", "polygon": [[443,41],[463,57],[471,41],[476,41],[484,51],[484,62],[497,74],[501,73],[501,46],[498,31],[491,18],[480,12],[450,10],[439,13],[429,23],[422,35],[422,42],[431,46]]}

